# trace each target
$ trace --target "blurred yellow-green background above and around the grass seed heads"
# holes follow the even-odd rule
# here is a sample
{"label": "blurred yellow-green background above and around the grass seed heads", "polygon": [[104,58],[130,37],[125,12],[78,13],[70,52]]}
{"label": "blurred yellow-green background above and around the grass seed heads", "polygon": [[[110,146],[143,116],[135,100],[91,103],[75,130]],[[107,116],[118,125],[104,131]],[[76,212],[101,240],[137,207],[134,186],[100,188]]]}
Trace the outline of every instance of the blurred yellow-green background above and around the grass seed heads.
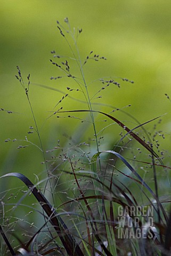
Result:
{"label": "blurred yellow-green background above and around the grass seed heads", "polygon": [[[1,174],[16,171],[26,173],[29,178],[34,179],[32,174],[40,173],[43,168],[40,165],[43,161],[42,154],[36,147],[17,149],[19,145],[27,145],[25,141],[20,141],[25,140],[25,136],[37,145],[39,142],[36,134],[31,137],[27,133],[29,126],[35,125],[25,92],[15,78],[16,66],[20,67],[26,84],[27,75],[30,74],[30,101],[39,127],[48,116],[47,111],[53,110],[63,94],[38,87],[34,83],[54,87],[65,93],[68,93],[67,86],[77,88],[77,84],[70,83],[68,79],[50,80],[51,76],[61,75],[50,63],[51,51],[72,55],[56,28],[56,20],[64,24],[65,17],[68,17],[71,28],[83,29],[78,39],[82,59],[86,58],[90,51],[107,58],[107,61],[87,63],[85,75],[88,83],[108,76],[126,77],[134,81],[134,84],[122,82],[120,89],[117,86],[109,87],[104,90],[103,98],[94,102],[108,103],[118,108],[131,104],[131,107],[125,110],[139,119],[140,123],[167,113],[162,117],[160,129],[166,134],[170,133],[171,105],[165,96],[167,93],[171,97],[169,0],[7,0],[0,3],[0,108],[22,113],[0,113]],[[74,66],[72,70],[75,68]],[[96,83],[89,86],[91,93],[100,88],[101,85]],[[70,95],[75,97],[74,93]],[[78,95],[77,98],[79,97]],[[86,105],[79,106],[77,101],[69,98],[60,106],[63,106],[63,110],[87,108]],[[106,113],[112,110],[102,106],[94,106],[94,109]],[[82,116],[86,118],[86,115]],[[116,116],[129,127],[136,126],[130,117],[119,112]],[[77,131],[80,131],[77,130],[77,121],[56,119],[46,122],[41,130],[45,149],[56,145],[62,132],[68,135],[74,133],[76,137]],[[110,145],[118,140],[118,132],[107,129],[105,134],[111,131],[112,136],[107,135]],[[17,141],[5,143],[7,138]],[[163,144],[166,150],[170,147],[170,138],[167,138]],[[80,140],[82,141],[82,137]]]}

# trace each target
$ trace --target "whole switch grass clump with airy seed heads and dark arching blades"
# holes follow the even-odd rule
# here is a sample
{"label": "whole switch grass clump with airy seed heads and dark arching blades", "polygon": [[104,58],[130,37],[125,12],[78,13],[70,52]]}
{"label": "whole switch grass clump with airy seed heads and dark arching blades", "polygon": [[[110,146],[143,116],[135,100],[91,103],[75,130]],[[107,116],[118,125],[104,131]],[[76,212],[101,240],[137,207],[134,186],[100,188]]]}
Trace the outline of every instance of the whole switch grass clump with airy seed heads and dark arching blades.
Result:
{"label": "whole switch grass clump with airy seed heads and dark arching blades", "polygon": [[[43,178],[39,180],[37,175],[34,183],[20,172],[1,177],[5,181],[19,179],[26,186],[1,191],[1,255],[170,255],[170,196],[168,193],[164,197],[160,191],[161,180],[165,180],[170,189],[170,167],[164,164],[165,152],[160,150],[160,140],[165,134],[157,130],[161,117],[140,123],[125,109],[101,102],[104,90],[113,91],[133,81],[121,77],[100,78],[93,81],[97,83],[97,91],[91,91],[93,82],[87,83],[84,70],[91,61],[107,59],[91,51],[82,60],[77,45],[82,29],[72,30],[67,18],[64,25],[57,21],[57,28],[71,57],[51,52],[50,62],[60,74],[51,80],[58,82],[67,78],[68,81],[66,91],[37,84],[63,94],[54,102],[42,126],[50,119],[61,123],[64,118],[70,126],[76,119],[85,127],[91,126],[93,134],[90,135],[88,129],[83,132],[83,126],[76,127],[71,137],[64,134],[66,145],[61,145],[58,134],[58,138],[54,138],[56,145],[44,149],[41,127],[37,125],[30,100],[33,84],[28,75],[26,85],[17,67],[16,77],[25,91],[34,122],[28,132],[30,139],[26,137],[18,149],[27,150],[29,145],[37,147],[42,153],[45,171]],[[70,65],[73,62],[76,63],[74,69]],[[72,109],[71,105],[66,109],[67,98],[82,103],[84,108]],[[110,108],[110,112],[101,111],[102,106]],[[129,107],[131,105],[124,108]],[[116,113],[124,113],[136,125],[130,128],[128,122],[116,118]],[[151,123],[154,129],[149,132],[145,127]],[[110,126],[110,143],[105,143]],[[116,126],[120,139],[114,144]],[[37,134],[39,145],[31,140],[32,133]],[[33,203],[29,204],[27,198],[31,195]],[[25,209],[26,214],[20,209]]]}

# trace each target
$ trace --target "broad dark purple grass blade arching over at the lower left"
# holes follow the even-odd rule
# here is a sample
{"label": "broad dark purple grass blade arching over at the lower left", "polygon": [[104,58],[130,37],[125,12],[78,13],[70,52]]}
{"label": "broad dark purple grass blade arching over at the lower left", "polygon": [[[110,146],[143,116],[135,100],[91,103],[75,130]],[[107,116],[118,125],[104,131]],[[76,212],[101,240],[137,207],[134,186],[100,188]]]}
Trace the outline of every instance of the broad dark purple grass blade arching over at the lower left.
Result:
{"label": "broad dark purple grass blade arching over at the lower left", "polygon": [[69,234],[69,230],[66,224],[63,222],[60,216],[56,213],[53,206],[47,201],[44,195],[37,190],[34,184],[23,174],[21,173],[7,173],[3,175],[4,177],[17,177],[22,182],[26,184],[26,186],[30,189],[31,193],[36,197],[39,204],[42,206],[43,210],[46,212],[48,218],[50,218],[50,222],[52,223],[56,233],[59,235],[61,242],[66,249],[69,255],[73,256],[84,256],[82,250],[79,245],[76,243],[74,237]]}

